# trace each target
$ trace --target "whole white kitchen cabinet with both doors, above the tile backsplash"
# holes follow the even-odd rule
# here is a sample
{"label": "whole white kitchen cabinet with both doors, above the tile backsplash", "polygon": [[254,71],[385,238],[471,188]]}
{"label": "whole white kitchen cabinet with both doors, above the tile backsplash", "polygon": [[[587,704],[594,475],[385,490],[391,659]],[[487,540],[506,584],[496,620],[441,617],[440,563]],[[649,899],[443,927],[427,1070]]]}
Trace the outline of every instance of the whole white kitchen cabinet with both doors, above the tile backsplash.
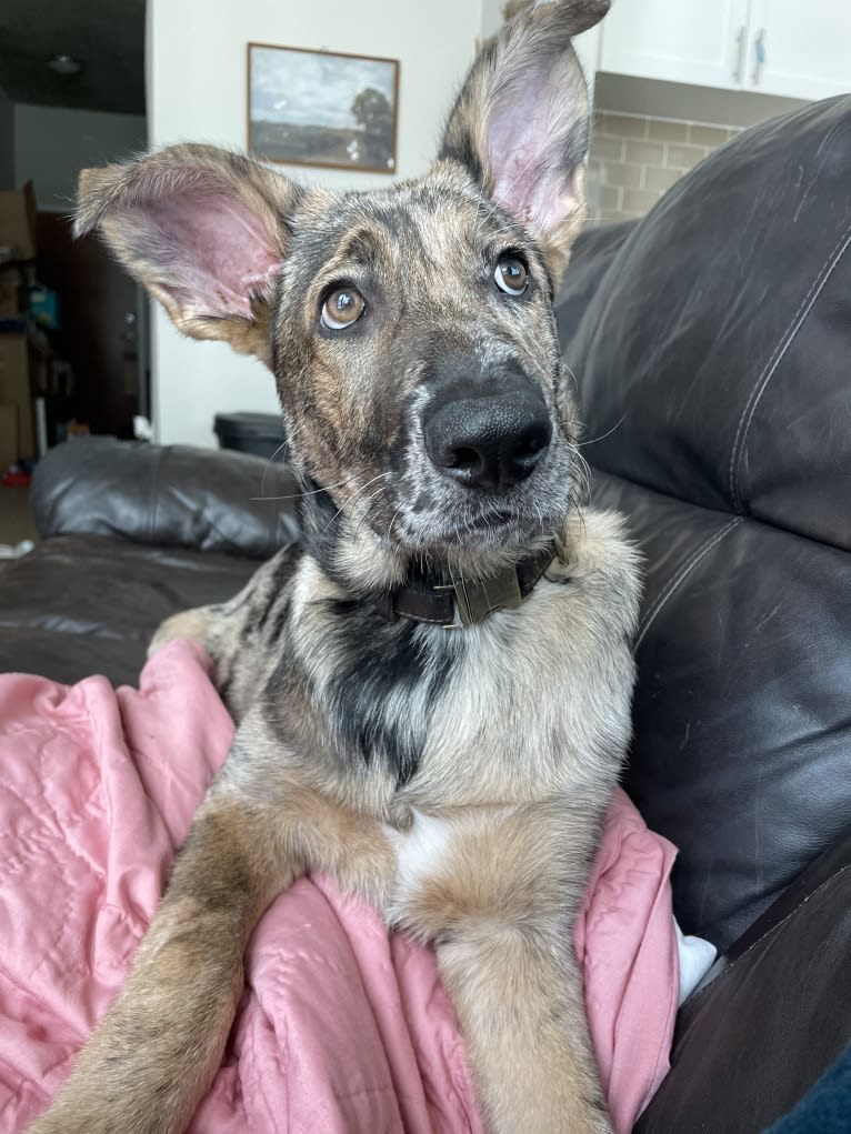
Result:
{"label": "whole white kitchen cabinet with both doors, above the tile backsplash", "polygon": [[844,94],[851,3],[614,0],[603,22],[600,70],[793,99]]}

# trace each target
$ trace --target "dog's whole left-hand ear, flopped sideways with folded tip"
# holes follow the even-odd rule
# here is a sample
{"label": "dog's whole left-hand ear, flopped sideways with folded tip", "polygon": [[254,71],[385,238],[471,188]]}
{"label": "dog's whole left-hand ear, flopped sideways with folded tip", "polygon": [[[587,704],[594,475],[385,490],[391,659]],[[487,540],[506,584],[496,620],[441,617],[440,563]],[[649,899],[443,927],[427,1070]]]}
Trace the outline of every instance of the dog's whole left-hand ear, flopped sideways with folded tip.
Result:
{"label": "dog's whole left-hand ear, flopped sideways with folded tip", "polygon": [[75,234],[100,228],[185,335],[271,366],[275,280],[301,193],[248,158],[177,145],[83,170]]}

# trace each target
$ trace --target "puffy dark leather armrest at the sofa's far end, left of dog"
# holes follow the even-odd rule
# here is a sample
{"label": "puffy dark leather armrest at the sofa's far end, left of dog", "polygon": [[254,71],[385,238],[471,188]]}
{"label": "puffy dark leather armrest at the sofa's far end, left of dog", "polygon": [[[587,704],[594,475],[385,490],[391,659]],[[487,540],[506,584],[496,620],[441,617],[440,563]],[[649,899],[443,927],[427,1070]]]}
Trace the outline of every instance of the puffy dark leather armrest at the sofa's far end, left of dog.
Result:
{"label": "puffy dark leather armrest at the sofa's far end, left of dog", "polygon": [[234,450],[85,438],[39,463],[39,533],[268,558],[297,538],[290,469]]}

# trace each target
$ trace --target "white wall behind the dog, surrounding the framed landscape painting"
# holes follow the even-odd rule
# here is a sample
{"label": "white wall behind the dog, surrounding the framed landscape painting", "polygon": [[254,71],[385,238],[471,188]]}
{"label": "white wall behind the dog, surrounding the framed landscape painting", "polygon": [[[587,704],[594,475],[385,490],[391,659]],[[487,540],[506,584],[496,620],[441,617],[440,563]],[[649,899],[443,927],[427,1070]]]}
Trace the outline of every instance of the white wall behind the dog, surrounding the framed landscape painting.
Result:
{"label": "white wall behind the dog, surrounding the framed landscape painting", "polygon": [[[335,7],[294,0],[149,0],[149,130],[153,145],[203,141],[245,146],[246,43],[385,56],[401,61],[397,174],[429,164],[440,125],[481,34],[482,0],[359,0]],[[331,187],[388,185],[389,177],[286,170]],[[219,342],[182,339],[158,308],[153,414],[166,443],[213,445],[216,413],[275,413],[271,374]]]}

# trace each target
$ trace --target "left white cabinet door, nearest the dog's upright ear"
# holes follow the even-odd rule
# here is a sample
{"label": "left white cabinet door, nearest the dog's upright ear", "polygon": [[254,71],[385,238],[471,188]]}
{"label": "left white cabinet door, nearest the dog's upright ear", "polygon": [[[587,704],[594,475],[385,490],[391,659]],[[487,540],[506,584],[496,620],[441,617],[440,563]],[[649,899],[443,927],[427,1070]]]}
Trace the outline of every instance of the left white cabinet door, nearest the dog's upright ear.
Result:
{"label": "left white cabinet door, nearest the dog's upright ear", "polygon": [[603,22],[600,70],[735,87],[747,25],[748,0],[614,0]]}

